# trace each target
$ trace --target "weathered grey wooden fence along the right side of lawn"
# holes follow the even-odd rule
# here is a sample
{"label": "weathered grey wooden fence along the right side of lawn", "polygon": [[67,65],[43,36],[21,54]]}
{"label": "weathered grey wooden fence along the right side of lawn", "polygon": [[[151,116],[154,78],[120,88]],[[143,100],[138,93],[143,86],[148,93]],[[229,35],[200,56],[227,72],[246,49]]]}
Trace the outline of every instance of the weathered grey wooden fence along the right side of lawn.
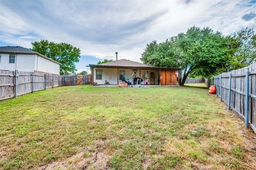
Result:
{"label": "weathered grey wooden fence along the right side of lawn", "polygon": [[256,133],[256,63],[214,76],[216,95]]}

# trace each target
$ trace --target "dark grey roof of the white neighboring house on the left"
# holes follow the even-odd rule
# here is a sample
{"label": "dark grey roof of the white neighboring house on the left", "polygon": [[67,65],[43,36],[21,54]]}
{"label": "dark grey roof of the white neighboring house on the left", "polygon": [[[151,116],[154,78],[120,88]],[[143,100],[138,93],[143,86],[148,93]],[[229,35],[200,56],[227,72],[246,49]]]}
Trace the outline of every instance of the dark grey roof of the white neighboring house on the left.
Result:
{"label": "dark grey roof of the white neighboring house on the left", "polygon": [[37,53],[35,51],[32,51],[28,48],[24,48],[21,46],[0,46],[0,53],[16,53],[16,54],[37,54],[39,56],[42,56],[43,58],[47,59],[47,60],[51,60],[55,63],[61,64],[55,60],[52,60],[50,58],[48,58],[47,56]]}

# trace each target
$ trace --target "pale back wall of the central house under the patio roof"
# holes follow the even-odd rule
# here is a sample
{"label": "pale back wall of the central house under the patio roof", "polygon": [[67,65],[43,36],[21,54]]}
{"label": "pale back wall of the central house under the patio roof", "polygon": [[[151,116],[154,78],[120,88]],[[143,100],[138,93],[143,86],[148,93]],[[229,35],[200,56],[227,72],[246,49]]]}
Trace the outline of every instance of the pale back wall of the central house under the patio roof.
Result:
{"label": "pale back wall of the central house under the patio roof", "polygon": [[[97,80],[96,79],[96,69],[102,70],[102,79]],[[116,68],[93,68],[93,82],[97,82],[98,84],[104,84],[105,80],[107,80],[110,84],[117,84],[117,78],[119,83],[124,83],[124,81],[119,80],[119,70],[124,70],[124,74],[126,77],[130,77],[133,73],[133,69],[116,69]],[[159,76],[159,70],[142,70],[141,69],[141,76],[140,71],[137,69],[136,75],[133,75],[133,77],[130,79],[130,82],[133,84],[133,78],[141,77],[143,79],[143,82],[141,84],[145,84],[145,74],[148,71],[148,76],[150,77],[150,72],[154,72],[154,78],[150,78],[149,84],[158,84],[158,76]],[[152,82],[152,80],[154,82]]]}

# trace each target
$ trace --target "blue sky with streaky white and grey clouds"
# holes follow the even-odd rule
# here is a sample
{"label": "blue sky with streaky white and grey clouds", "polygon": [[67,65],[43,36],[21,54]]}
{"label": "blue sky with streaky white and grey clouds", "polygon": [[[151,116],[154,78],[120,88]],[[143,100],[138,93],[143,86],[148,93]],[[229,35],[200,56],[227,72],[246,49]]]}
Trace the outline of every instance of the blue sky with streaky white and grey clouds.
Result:
{"label": "blue sky with streaky white and grey clouds", "polygon": [[[48,39],[81,49],[96,59],[140,61],[146,44],[196,25],[231,34],[255,27],[255,1],[0,1],[1,45],[31,47]],[[235,28],[235,29],[234,29]],[[81,59],[81,62],[87,58]],[[81,66],[83,67],[82,63]],[[77,67],[78,68],[78,67]],[[84,69],[78,68],[78,69]]]}

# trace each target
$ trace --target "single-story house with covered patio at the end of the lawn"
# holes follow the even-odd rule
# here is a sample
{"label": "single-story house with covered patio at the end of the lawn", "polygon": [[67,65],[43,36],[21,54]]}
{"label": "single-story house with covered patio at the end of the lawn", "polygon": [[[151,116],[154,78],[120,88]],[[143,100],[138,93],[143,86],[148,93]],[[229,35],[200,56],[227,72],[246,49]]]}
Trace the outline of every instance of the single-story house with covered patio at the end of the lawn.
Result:
{"label": "single-story house with covered patio at the end of the lawn", "polygon": [[[117,54],[117,53],[116,53]],[[92,82],[98,85],[118,85],[129,80],[132,84],[179,85],[180,68],[153,67],[148,64],[121,59],[103,64],[89,64]],[[147,80],[146,80],[147,79]],[[146,80],[146,82],[145,82]]]}

